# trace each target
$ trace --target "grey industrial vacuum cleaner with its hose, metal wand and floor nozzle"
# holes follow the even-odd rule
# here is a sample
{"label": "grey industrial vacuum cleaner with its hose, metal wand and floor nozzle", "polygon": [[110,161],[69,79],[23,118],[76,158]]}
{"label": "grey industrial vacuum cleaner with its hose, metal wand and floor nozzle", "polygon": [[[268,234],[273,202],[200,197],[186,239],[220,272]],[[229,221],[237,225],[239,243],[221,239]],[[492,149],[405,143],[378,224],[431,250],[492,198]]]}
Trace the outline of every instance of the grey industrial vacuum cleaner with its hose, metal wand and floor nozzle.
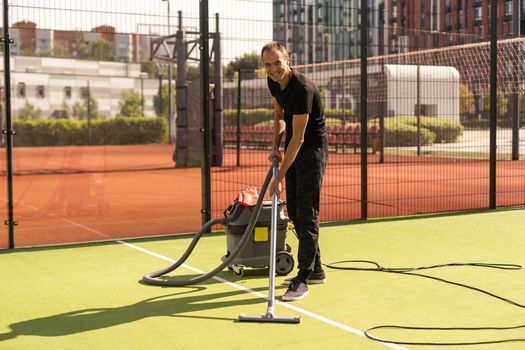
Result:
{"label": "grey industrial vacuum cleaner with its hose, metal wand and floor nozzle", "polygon": [[[271,201],[265,201],[264,195],[273,177],[277,176],[279,160],[275,157],[268,171],[261,192],[254,200],[246,201],[237,198],[224,211],[224,218],[212,219],[195,233],[190,245],[173,265],[142,277],[145,283],[158,286],[186,286],[205,281],[227,267],[237,277],[244,275],[245,267],[269,268],[268,308],[264,315],[240,315],[239,321],[248,322],[282,322],[299,323],[300,317],[274,316],[275,275],[287,275],[293,270],[294,258],[291,248],[286,244],[288,218],[284,216],[284,202],[278,200],[277,194],[272,194]],[[255,196],[252,197],[255,199]],[[161,279],[180,267],[191,255],[199,239],[209,232],[211,227],[222,224],[226,232],[227,253],[222,257],[222,263],[210,272],[191,279]]]}

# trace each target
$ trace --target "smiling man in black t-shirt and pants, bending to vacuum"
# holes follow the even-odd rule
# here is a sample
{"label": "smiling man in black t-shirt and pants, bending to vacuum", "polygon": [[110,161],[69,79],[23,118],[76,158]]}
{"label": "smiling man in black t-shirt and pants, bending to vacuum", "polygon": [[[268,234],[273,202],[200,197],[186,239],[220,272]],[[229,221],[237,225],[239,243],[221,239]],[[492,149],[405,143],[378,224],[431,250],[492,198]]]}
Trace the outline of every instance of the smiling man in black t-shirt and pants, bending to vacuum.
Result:
{"label": "smiling man in black t-shirt and pants, bending to vacuum", "polygon": [[[299,300],[308,295],[308,284],[324,283],[326,276],[319,251],[319,202],[326,169],[328,141],[321,96],[315,84],[290,67],[285,46],[266,44],[261,58],[273,96],[274,140],[268,159],[282,162],[268,193],[281,193],[286,179],[286,206],[299,238],[299,272],[287,279],[282,299]],[[279,146],[286,131],[284,158]]]}

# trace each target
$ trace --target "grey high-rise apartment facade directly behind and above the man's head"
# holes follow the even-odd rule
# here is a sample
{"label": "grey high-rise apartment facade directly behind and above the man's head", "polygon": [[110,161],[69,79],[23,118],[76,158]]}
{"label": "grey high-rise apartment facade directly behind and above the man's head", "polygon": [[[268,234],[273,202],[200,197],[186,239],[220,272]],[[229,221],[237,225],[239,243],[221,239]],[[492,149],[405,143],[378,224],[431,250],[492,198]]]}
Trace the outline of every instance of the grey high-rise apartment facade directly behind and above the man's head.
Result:
{"label": "grey high-rise apartment facade directly behind and above the man's head", "polygon": [[[379,54],[379,11],[369,0],[369,50]],[[286,43],[294,64],[339,61],[360,55],[360,0],[274,0],[273,38]]]}

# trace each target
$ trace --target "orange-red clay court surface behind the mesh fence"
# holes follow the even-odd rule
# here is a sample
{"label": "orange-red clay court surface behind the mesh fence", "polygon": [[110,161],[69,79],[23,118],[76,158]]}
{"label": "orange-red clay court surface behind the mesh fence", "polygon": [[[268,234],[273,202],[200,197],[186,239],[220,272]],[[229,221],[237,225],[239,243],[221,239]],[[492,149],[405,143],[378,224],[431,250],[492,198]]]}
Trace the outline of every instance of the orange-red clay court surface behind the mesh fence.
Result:
{"label": "orange-red clay court surface behind the mesh fence", "polygon": [[[15,148],[15,246],[34,246],[195,232],[202,225],[201,169],[176,169],[172,145]],[[243,150],[236,166],[225,150],[212,168],[212,217],[236,194],[259,187],[267,152]],[[368,216],[487,208],[487,160],[368,157]],[[360,155],[331,153],[321,220],[361,216]],[[6,200],[5,153],[1,153]],[[525,204],[525,162],[499,161],[497,205]],[[1,208],[7,218],[6,205]],[[7,227],[0,248],[8,246]]]}

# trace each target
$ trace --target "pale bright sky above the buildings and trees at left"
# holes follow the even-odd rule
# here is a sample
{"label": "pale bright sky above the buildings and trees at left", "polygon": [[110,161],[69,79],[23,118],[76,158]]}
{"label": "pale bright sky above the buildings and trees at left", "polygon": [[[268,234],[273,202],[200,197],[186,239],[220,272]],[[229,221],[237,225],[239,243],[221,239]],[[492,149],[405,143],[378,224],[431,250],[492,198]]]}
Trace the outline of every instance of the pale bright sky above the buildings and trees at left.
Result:
{"label": "pale bright sky above the buildings and trees at left", "polygon": [[[198,31],[199,0],[169,0],[170,27],[174,33],[178,11],[183,26]],[[208,0],[209,29],[215,31],[219,13],[223,36],[223,62],[248,52],[259,52],[272,39],[271,0]],[[168,2],[163,0],[10,0],[10,23],[29,20],[37,28],[89,31],[111,25],[120,33],[168,33]]]}

